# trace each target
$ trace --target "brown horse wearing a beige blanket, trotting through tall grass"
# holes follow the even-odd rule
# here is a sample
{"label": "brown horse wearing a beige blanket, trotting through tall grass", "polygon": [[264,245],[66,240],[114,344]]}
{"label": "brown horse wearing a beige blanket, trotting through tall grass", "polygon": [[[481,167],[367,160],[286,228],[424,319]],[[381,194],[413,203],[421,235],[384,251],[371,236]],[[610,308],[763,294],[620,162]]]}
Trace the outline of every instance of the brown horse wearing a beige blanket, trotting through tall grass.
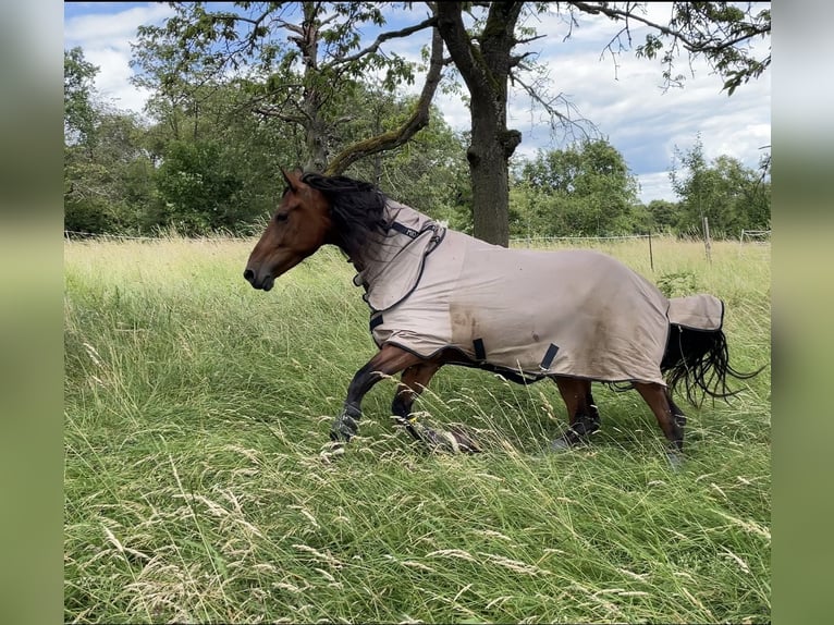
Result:
{"label": "brown horse wearing a beige blanket, trotting through tall grass", "polygon": [[529,383],[555,382],[568,427],[553,451],[587,443],[601,418],[592,382],[636,389],[657,418],[673,466],[680,464],[686,416],[673,401],[684,385],[692,405],[727,399],[724,304],[709,294],[669,299],[618,260],[587,249],[533,252],[490,245],[402,205],[376,185],[301,170],[281,173],[281,201],[253,248],[243,277],[269,291],[323,245],[357,270],[378,352],[351,380],[330,439],[344,452],[361,403],[381,379],[401,373],[391,412],[418,441],[477,453],[462,430],[418,430],[412,407],[444,365]]}

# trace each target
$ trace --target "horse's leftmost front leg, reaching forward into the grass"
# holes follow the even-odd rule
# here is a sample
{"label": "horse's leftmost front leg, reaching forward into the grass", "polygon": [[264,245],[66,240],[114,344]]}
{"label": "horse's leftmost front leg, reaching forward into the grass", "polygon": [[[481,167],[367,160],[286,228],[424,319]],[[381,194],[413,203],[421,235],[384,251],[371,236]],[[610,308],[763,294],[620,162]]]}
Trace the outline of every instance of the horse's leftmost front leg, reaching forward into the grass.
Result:
{"label": "horse's leftmost front leg, reaching forward into the grass", "polygon": [[330,428],[330,440],[341,443],[355,437],[361,418],[361,401],[373,384],[419,361],[419,357],[405,350],[394,345],[383,345],[351,380],[344,407]]}

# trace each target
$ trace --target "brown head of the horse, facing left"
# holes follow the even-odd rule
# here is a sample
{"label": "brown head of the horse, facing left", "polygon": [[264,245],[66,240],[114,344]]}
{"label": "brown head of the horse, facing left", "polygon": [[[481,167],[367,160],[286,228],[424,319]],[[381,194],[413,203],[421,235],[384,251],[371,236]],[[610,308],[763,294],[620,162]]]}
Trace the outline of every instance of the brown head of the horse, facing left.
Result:
{"label": "brown head of the horse, facing left", "polygon": [[272,219],[255,245],[243,277],[255,289],[269,291],[275,279],[314,254],[331,230],[324,195],[305,184],[302,171],[281,173],[286,188]]}

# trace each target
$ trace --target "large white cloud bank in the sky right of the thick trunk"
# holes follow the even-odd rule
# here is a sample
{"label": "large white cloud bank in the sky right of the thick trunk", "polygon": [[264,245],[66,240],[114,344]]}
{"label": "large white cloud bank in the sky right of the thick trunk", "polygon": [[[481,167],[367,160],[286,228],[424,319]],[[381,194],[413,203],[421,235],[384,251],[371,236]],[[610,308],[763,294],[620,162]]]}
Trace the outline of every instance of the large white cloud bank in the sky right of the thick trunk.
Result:
{"label": "large white cloud bank in the sky right of the thick trunk", "polygon": [[[688,149],[698,133],[709,159],[728,155],[747,167],[758,164],[760,148],[770,144],[769,74],[728,97],[721,90],[720,77],[703,60],[691,64],[684,60],[680,65],[691,66],[692,74],[683,88],[664,91],[658,62],[623,53],[614,66],[611,57],[600,59],[599,48],[604,41],[597,41],[597,50],[571,49],[569,53],[555,48],[571,44],[560,44],[547,54],[542,51],[539,62],[549,70],[553,93],[562,93],[582,118],[592,121],[634,172],[652,180],[648,176],[669,169],[675,147]],[[511,111],[520,120],[527,109],[529,98],[519,97]],[[561,147],[545,123],[519,130],[525,132],[525,142]],[[653,183],[643,186],[661,188]],[[663,198],[673,199],[671,195]]]}

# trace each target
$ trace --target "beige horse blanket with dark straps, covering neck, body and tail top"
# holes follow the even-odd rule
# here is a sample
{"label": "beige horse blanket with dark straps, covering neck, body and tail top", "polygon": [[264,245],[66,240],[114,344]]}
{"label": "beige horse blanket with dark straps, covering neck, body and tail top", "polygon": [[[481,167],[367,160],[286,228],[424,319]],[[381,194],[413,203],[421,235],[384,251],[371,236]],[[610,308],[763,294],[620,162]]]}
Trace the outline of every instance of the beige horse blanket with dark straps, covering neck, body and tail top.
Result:
{"label": "beige horse blanket with dark straps, covering neck, body and tail top", "polygon": [[722,326],[716,297],[670,301],[608,255],[507,249],[390,199],[385,211],[388,232],[367,243],[354,279],[366,290],[380,347],[391,343],[425,358],[451,347],[531,379],[664,384],[670,323]]}

